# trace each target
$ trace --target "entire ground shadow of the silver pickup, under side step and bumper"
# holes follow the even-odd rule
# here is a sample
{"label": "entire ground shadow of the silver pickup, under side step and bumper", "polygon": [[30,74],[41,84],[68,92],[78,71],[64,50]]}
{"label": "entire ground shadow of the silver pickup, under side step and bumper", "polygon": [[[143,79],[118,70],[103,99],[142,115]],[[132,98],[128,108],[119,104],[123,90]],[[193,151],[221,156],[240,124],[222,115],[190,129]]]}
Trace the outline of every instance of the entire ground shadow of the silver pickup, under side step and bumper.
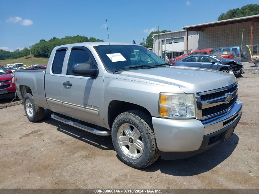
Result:
{"label": "entire ground shadow of the silver pickup, under side step and bumper", "polygon": [[[51,119],[51,113],[51,111],[45,110],[45,118],[41,122],[56,126],[57,131],[95,146],[101,150],[114,150],[111,136],[98,136],[76,127],[63,124],[62,122]],[[220,143],[198,155],[180,160],[158,159],[154,164],[140,170],[145,172],[155,172],[160,170],[161,173],[182,177],[198,175],[215,168],[221,162],[226,160],[235,150],[238,141],[238,136],[233,134],[226,143]],[[116,155],[116,157],[120,160],[118,155]]]}

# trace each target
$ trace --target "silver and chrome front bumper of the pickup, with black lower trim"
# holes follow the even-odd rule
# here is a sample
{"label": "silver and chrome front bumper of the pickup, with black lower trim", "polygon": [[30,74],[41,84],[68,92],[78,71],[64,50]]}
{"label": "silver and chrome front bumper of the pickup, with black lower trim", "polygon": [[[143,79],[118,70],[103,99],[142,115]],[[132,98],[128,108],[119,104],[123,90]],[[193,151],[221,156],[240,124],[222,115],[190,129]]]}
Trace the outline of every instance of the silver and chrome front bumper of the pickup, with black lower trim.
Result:
{"label": "silver and chrome front bumper of the pickup, with black lower trim", "polygon": [[225,142],[233,135],[241,115],[242,102],[238,99],[230,111],[207,120],[152,117],[161,158],[188,158]]}

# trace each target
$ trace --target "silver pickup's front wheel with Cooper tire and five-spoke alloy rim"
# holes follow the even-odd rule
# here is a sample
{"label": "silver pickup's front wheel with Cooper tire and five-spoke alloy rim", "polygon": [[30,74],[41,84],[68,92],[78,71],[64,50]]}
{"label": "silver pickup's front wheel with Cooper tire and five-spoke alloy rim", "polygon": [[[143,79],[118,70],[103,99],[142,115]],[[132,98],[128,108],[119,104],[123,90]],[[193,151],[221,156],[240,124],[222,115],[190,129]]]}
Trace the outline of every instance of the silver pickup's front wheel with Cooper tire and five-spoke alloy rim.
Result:
{"label": "silver pickup's front wheel with Cooper tire and five-spoke alloy rim", "polygon": [[130,110],[116,117],[112,143],[122,162],[133,168],[145,168],[160,156],[151,117],[142,111]]}

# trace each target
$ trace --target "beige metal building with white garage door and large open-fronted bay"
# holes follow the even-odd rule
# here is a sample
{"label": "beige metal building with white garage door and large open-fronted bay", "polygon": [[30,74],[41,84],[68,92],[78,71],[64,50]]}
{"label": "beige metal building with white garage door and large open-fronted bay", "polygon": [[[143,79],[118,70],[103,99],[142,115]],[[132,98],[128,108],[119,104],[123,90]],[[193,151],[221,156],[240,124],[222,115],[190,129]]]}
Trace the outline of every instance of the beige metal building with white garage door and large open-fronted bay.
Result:
{"label": "beige metal building with white garage door and large open-fronted bay", "polygon": [[153,34],[153,51],[157,55],[162,55],[163,51],[167,55],[172,52],[174,57],[197,49],[249,45],[253,54],[259,52],[259,15],[184,26],[183,29]]}

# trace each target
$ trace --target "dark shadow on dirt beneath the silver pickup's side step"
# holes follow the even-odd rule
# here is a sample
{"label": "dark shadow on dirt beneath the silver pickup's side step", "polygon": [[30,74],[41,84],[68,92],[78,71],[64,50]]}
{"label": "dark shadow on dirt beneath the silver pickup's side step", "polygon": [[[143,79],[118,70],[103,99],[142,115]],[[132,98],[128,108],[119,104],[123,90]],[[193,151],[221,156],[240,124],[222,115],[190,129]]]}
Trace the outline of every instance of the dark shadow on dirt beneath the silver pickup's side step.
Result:
{"label": "dark shadow on dirt beneath the silver pickup's side step", "polygon": [[57,131],[62,132],[66,135],[69,135],[70,137],[78,139],[84,143],[88,143],[92,146],[100,148],[101,150],[114,150],[111,136],[94,135],[90,132],[78,129],[68,124],[64,124],[54,119],[51,119],[50,118],[51,114],[52,114],[51,111],[45,110],[44,120],[41,122],[56,126]]}

